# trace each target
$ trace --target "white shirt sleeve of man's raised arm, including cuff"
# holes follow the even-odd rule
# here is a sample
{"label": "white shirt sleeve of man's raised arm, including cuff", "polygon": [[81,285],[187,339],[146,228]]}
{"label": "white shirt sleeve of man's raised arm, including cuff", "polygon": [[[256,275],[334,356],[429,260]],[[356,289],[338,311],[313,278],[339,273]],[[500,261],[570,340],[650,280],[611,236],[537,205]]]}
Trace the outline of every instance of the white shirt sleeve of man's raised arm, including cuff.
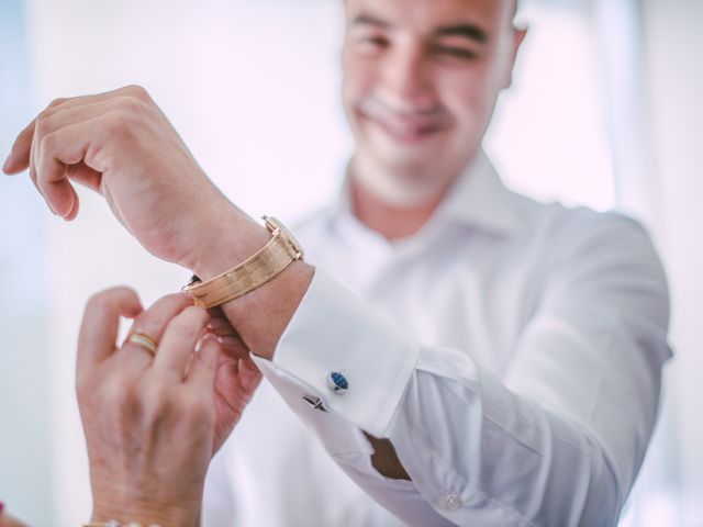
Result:
{"label": "white shirt sleeve of man's raised arm, including cuff", "polygon": [[[563,233],[507,373],[425,346],[321,270],[265,377],[337,463],[409,525],[616,525],[670,356],[663,271],[610,215]],[[344,394],[326,377],[343,370]],[[379,474],[361,430],[412,481]]]}

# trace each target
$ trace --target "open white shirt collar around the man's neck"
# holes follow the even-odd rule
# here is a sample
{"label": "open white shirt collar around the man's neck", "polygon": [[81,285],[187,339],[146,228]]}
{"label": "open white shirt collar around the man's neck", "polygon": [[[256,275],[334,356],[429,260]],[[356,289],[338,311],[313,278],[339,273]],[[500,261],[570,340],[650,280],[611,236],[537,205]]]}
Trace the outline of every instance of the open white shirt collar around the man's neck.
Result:
{"label": "open white shirt collar around the man's neck", "polygon": [[[344,178],[333,218],[353,220],[348,170]],[[493,164],[481,149],[459,175],[434,215],[421,229],[457,224],[498,235],[510,235],[520,227],[514,194],[505,188]]]}

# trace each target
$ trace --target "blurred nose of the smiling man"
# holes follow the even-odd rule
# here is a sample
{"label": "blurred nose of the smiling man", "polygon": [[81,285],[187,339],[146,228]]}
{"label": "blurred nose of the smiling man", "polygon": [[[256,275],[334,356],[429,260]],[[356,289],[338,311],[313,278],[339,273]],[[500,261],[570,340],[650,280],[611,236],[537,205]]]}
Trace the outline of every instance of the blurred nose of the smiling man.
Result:
{"label": "blurred nose of the smiling man", "polygon": [[420,46],[393,49],[384,64],[382,90],[386,101],[399,112],[426,112],[435,106],[432,65]]}

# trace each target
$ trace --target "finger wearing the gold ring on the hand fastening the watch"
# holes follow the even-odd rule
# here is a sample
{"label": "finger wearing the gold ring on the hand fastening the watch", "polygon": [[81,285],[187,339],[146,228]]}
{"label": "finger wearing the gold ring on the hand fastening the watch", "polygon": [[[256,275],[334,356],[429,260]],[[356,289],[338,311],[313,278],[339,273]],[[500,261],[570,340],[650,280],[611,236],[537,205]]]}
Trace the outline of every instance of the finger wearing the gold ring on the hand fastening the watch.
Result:
{"label": "finger wearing the gold ring on the hand fastening the watch", "polygon": [[[183,293],[169,294],[156,302],[134,318],[130,335],[141,334],[159,343],[164,337],[168,323],[186,307],[192,305],[192,299]],[[152,354],[144,347],[127,340],[118,351],[122,361],[135,371],[143,370],[152,362]]]}

